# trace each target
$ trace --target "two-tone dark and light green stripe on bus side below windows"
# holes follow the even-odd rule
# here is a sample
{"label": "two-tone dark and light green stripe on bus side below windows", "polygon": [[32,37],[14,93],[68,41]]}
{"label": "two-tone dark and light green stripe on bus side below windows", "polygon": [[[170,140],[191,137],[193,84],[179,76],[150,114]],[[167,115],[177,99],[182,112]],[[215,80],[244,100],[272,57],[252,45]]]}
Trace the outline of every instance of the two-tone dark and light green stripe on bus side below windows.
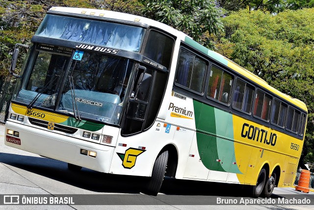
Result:
{"label": "two-tone dark and light green stripe on bus side below windows", "polygon": [[[193,100],[197,148],[209,170],[241,174],[235,162],[232,114]],[[226,137],[222,139],[213,135]]]}

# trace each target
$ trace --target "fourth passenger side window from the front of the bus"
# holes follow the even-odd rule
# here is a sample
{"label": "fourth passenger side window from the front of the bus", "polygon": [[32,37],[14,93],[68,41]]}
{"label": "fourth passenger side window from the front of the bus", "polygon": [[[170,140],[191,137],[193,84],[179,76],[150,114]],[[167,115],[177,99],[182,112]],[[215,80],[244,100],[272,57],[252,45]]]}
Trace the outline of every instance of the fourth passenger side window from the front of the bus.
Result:
{"label": "fourth passenger side window from the front of the bus", "polygon": [[271,103],[271,97],[263,93],[261,90],[257,90],[256,96],[255,96],[253,115],[255,117],[261,118],[262,120],[268,120],[269,111],[270,111],[270,103]]}

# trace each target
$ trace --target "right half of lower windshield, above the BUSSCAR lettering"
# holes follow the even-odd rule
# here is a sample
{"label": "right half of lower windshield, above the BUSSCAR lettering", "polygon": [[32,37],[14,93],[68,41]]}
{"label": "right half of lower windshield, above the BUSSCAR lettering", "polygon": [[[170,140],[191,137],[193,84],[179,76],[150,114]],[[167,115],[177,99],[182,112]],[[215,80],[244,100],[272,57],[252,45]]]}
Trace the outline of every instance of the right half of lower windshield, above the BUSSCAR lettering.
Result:
{"label": "right half of lower windshield, above the BUSSCAR lettering", "polygon": [[57,110],[74,112],[75,103],[81,117],[118,124],[133,66],[129,59],[84,52],[72,61]]}

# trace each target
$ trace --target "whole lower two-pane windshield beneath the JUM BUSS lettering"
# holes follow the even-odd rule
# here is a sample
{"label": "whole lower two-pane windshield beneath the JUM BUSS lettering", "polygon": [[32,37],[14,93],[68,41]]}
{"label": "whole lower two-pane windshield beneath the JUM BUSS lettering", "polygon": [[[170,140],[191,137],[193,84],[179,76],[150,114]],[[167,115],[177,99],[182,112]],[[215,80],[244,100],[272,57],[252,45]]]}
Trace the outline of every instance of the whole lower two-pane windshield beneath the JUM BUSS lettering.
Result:
{"label": "whole lower two-pane windshield beneath the JUM BUSS lettering", "polygon": [[84,51],[81,60],[46,51],[36,55],[13,100],[119,124],[134,61]]}

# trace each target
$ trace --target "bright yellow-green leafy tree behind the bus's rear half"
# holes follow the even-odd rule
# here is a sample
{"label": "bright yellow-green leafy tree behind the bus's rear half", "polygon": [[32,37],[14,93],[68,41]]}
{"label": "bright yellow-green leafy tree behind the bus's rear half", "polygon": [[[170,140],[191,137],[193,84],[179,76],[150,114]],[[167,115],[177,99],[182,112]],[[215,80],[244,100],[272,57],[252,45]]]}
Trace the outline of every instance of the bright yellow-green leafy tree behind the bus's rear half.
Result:
{"label": "bright yellow-green leafy tree behind the bus's rear half", "polygon": [[277,15],[240,10],[222,21],[225,33],[217,37],[219,53],[307,104],[302,158],[314,162],[314,9]]}

